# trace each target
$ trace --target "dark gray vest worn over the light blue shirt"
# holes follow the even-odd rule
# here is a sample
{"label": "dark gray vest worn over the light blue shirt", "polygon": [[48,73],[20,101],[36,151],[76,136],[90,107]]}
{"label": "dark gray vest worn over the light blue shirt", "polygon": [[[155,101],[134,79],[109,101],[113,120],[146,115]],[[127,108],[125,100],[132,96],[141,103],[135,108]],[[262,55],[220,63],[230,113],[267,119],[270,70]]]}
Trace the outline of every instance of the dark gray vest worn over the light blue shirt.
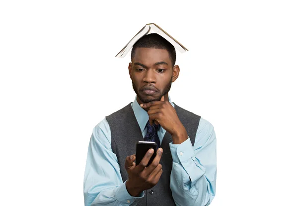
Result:
{"label": "dark gray vest worn over the light blue shirt", "polygon": [[[176,104],[175,109],[190,137],[192,145],[194,145],[201,117]],[[128,174],[124,167],[125,158],[136,153],[137,141],[144,141],[142,131],[135,117],[131,103],[111,115],[106,116],[106,119],[111,128],[112,150],[118,158],[122,180],[125,182],[128,179]],[[170,190],[170,175],[173,163],[169,147],[170,142],[172,142],[172,137],[166,132],[161,142],[163,153],[159,162],[162,165],[162,175],[159,182],[153,188],[144,191],[145,197],[139,201],[138,206],[175,206]]]}

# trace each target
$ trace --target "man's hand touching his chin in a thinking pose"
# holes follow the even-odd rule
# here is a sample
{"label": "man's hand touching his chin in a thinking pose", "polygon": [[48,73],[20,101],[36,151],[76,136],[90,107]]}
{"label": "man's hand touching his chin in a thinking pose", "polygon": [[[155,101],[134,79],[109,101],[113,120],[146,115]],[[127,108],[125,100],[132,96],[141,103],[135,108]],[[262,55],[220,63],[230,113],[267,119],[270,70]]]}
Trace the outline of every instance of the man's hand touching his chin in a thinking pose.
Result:
{"label": "man's hand touching his chin in a thinking pose", "polygon": [[185,127],[177,116],[175,108],[168,101],[164,101],[164,96],[160,101],[140,104],[142,108],[149,108],[149,122],[153,124],[157,121],[162,128],[172,135],[173,143],[180,144],[185,141],[188,136]]}

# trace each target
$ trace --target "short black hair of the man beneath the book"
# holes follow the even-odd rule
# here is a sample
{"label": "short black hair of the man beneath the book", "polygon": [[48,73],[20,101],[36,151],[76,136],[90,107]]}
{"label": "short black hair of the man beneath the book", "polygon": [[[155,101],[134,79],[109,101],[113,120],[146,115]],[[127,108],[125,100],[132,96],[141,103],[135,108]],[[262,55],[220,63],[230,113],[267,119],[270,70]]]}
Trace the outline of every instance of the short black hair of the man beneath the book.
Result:
{"label": "short black hair of the man beneath the book", "polygon": [[152,49],[166,49],[172,61],[172,66],[176,62],[175,47],[165,38],[156,33],[151,33],[140,38],[132,48],[131,59],[135,57],[137,48],[152,48]]}

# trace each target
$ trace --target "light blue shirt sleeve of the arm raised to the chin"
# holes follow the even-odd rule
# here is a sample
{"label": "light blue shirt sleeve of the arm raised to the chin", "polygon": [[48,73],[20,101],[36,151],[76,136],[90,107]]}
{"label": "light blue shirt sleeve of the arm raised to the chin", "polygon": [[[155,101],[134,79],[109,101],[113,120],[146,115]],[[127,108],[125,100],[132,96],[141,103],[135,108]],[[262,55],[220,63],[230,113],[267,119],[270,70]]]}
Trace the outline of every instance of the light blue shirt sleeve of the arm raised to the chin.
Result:
{"label": "light blue shirt sleeve of the arm raised to the chin", "polygon": [[192,146],[190,138],[170,143],[173,167],[170,188],[178,206],[208,206],[215,197],[216,135],[213,125],[201,118]]}

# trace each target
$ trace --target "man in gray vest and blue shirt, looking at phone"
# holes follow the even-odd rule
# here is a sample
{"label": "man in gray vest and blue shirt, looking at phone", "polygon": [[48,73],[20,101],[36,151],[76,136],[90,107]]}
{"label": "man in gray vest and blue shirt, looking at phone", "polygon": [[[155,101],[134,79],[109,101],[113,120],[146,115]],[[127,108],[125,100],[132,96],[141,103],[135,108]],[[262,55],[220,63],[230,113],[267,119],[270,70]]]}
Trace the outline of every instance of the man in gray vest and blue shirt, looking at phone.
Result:
{"label": "man in gray vest and blue shirt, looking at phone", "polygon": [[[84,176],[85,206],[208,206],[215,197],[216,136],[211,123],[174,104],[175,48],[148,34],[132,48],[136,99],[93,129]],[[153,132],[152,132],[153,131]],[[136,142],[160,146],[135,164]]]}

